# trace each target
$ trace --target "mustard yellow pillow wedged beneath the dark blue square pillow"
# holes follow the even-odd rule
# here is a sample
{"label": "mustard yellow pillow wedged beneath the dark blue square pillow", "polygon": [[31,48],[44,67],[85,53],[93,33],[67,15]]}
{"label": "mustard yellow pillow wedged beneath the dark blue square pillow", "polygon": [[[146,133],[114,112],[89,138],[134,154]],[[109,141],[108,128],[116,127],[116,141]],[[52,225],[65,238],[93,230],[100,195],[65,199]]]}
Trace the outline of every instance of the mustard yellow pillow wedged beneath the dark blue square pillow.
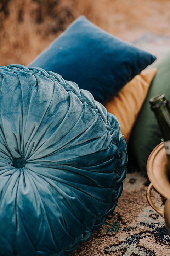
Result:
{"label": "mustard yellow pillow wedged beneath the dark blue square pillow", "polygon": [[132,127],[156,73],[157,68],[143,70],[128,82],[116,96],[104,103],[107,112],[117,117],[126,143],[128,143]]}

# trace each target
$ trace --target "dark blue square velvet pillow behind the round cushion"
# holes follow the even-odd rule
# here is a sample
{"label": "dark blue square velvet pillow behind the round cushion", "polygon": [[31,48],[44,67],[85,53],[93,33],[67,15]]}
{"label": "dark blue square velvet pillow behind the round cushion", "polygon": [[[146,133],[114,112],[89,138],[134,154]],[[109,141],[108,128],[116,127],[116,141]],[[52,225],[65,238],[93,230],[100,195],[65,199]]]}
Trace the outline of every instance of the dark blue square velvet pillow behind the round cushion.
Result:
{"label": "dark blue square velvet pillow behind the round cushion", "polygon": [[155,59],[80,16],[29,66],[56,72],[104,103]]}

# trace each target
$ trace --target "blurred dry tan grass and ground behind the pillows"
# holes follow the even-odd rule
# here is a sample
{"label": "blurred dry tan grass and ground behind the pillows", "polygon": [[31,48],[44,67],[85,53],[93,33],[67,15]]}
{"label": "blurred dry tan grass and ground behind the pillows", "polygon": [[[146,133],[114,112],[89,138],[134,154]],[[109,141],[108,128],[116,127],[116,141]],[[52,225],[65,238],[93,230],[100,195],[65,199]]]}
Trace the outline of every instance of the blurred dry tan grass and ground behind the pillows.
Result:
{"label": "blurred dry tan grass and ground behind the pillows", "polygon": [[169,10],[170,0],[0,0],[0,65],[27,65],[79,15],[127,42],[170,36]]}

